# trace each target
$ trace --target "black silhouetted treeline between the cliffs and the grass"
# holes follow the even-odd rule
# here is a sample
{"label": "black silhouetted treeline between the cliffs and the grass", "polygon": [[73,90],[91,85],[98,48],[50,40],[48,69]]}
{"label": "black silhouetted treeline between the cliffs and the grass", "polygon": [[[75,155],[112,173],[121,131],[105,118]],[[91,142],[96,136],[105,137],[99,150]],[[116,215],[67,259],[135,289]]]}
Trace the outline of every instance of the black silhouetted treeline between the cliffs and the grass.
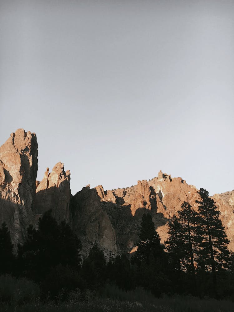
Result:
{"label": "black silhouetted treeline between the cliffs and the grass", "polygon": [[[51,211],[28,227],[17,255],[6,223],[0,227],[0,275],[27,278],[40,287],[41,300],[67,300],[71,293],[100,293],[106,285],[129,291],[143,287],[153,295],[194,295],[234,300],[234,254],[220,212],[208,192],[200,189],[198,211],[183,202],[169,223],[166,247],[160,243],[150,212],[139,228],[138,249],[106,261],[97,242],[81,260],[81,243]],[[0,298],[7,300],[7,298]]]}

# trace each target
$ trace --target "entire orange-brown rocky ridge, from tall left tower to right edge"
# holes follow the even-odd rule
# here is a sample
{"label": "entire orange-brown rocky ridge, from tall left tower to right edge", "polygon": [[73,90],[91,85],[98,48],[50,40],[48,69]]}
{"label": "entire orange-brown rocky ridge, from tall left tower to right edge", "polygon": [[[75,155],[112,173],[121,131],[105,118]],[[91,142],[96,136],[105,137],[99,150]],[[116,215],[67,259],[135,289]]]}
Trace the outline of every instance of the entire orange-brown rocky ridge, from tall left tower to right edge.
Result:
{"label": "entire orange-brown rocky ridge, from tall left tower to right edge", "polygon": [[[0,148],[0,222],[7,222],[12,241],[24,241],[27,226],[52,209],[57,221],[66,220],[83,243],[83,253],[96,241],[107,256],[134,251],[143,214],[148,211],[162,242],[167,239],[168,221],[183,201],[197,209],[197,189],[182,178],[161,171],[150,181],[130,188],[105,191],[101,185],[70,191],[70,171],[57,163],[41,182],[37,176],[37,139],[18,129]],[[215,194],[225,231],[234,250],[234,191]]]}

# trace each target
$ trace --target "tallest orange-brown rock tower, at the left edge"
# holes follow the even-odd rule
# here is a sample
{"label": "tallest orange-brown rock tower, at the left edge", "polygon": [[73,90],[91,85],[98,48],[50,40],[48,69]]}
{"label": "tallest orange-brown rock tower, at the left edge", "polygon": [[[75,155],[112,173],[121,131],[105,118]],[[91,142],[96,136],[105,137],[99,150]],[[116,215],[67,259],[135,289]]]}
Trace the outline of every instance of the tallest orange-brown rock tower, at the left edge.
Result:
{"label": "tallest orange-brown rock tower, at the left edge", "polygon": [[37,137],[18,129],[0,147],[0,224],[7,223],[16,246],[33,223],[36,178]]}

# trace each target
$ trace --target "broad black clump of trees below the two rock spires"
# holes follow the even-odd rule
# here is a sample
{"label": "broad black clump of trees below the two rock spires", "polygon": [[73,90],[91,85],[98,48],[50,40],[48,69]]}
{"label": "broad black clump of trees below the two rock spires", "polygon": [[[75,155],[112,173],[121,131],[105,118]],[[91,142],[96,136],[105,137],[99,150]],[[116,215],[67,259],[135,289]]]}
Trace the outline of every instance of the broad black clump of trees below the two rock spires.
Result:
{"label": "broad black clump of trees below the two rock spires", "polygon": [[38,231],[28,227],[28,236],[18,246],[19,270],[29,278],[40,281],[52,267],[61,264],[78,269],[81,243],[65,222],[58,224],[51,210],[39,219]]}

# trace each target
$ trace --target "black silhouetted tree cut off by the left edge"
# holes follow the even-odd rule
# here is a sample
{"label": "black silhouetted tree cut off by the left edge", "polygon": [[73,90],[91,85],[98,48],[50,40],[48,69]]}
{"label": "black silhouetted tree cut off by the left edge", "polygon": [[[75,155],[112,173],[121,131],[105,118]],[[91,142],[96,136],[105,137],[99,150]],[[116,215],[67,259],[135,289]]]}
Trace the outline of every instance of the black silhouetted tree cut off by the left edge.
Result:
{"label": "black silhouetted tree cut off by the left edge", "polygon": [[0,227],[0,274],[12,272],[14,259],[11,235],[6,222],[3,222]]}

